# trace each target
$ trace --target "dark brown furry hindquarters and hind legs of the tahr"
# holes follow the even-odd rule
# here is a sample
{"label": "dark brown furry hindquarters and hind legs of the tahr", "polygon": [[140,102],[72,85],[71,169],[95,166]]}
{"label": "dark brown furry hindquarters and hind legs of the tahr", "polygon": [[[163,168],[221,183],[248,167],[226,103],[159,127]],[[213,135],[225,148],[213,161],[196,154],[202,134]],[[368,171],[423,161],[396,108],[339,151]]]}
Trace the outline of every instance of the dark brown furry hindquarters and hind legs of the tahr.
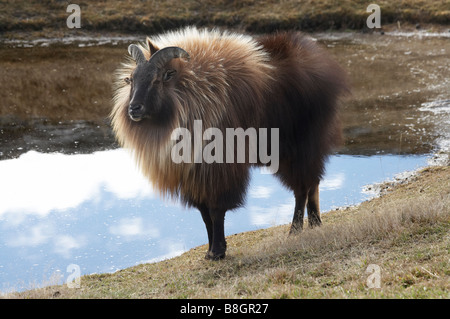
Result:
{"label": "dark brown furry hindquarters and hind legs of the tahr", "polygon": [[266,122],[280,128],[277,176],[294,191],[291,232],[303,227],[305,204],[311,226],[320,225],[319,181],[325,161],[341,141],[339,97],[348,91],[345,72],[311,39],[300,33],[265,36],[276,80],[266,103]]}

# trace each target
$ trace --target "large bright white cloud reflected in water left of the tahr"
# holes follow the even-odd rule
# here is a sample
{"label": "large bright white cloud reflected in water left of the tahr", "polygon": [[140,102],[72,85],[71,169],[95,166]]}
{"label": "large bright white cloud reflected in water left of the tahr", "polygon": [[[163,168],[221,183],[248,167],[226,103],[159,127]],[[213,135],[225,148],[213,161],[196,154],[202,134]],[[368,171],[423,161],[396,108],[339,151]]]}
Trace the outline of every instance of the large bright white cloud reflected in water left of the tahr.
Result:
{"label": "large bright white cloud reflected in water left of the tahr", "polygon": [[65,155],[30,151],[0,162],[0,216],[9,212],[45,216],[101,200],[102,190],[119,199],[151,197],[150,184],[124,150]]}

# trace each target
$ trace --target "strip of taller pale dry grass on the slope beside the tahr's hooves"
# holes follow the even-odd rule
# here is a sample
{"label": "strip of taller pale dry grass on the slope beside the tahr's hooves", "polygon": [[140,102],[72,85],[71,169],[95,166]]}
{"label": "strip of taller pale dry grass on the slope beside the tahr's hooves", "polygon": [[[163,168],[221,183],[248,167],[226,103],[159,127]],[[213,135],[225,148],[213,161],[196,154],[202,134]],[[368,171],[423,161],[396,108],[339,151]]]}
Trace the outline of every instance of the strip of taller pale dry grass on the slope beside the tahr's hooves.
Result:
{"label": "strip of taller pale dry grass on the slope beside the tahr's hooves", "polygon": [[[372,244],[389,247],[399,241],[399,234],[414,234],[448,220],[450,197],[443,196],[439,201],[426,198],[417,203],[400,199],[395,202],[395,206],[387,200],[375,207],[364,206],[350,209],[355,210],[349,213],[351,217],[340,216],[339,222],[324,223],[320,228],[308,229],[293,237],[286,237],[283,232],[279,232],[279,236],[271,237],[270,242],[266,238],[251,247],[251,251],[245,251],[244,248],[241,252],[245,256],[242,262],[252,263],[254,259],[260,262],[267,258],[291,255],[303,258],[316,254],[333,255],[347,249],[367,248]],[[252,251],[259,251],[261,255],[252,254]]]}

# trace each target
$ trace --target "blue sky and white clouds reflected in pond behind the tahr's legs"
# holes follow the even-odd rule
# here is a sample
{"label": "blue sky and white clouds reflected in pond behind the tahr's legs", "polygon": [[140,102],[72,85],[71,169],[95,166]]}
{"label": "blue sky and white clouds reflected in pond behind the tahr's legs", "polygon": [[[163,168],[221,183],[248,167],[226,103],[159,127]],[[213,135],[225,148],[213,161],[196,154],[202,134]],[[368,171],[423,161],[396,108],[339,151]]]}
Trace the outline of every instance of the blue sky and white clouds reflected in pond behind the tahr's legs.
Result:
{"label": "blue sky and white clouds reflected in pond behind the tahr's legs", "polygon": [[[321,183],[323,212],[367,198],[364,185],[427,163],[426,155],[332,156]],[[164,202],[123,149],[84,155],[30,151],[0,161],[0,291],[31,288],[69,264],[82,274],[157,261],[207,242],[195,209]],[[255,169],[244,208],[226,234],[289,223],[292,193]],[[61,281],[60,282],[63,282]]]}

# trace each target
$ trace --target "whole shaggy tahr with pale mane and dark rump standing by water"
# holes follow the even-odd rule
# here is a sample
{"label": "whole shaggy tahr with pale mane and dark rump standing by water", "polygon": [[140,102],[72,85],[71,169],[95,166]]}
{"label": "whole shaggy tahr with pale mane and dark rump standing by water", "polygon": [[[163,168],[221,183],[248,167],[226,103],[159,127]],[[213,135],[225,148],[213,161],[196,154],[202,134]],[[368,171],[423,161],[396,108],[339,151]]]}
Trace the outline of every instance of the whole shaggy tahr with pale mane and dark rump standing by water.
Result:
{"label": "whole shaggy tahr with pale mane and dark rump standing by water", "polygon": [[[177,128],[277,128],[275,173],[294,192],[291,232],[321,224],[319,182],[341,142],[345,72],[299,32],[262,37],[188,27],[130,45],[117,72],[112,126],[119,143],[163,195],[200,210],[207,258],[225,256],[224,218],[244,204],[249,169],[257,163],[171,159]],[[270,140],[270,139],[269,139]],[[194,141],[190,141],[194,143]],[[275,145],[269,145],[269,149]]]}

